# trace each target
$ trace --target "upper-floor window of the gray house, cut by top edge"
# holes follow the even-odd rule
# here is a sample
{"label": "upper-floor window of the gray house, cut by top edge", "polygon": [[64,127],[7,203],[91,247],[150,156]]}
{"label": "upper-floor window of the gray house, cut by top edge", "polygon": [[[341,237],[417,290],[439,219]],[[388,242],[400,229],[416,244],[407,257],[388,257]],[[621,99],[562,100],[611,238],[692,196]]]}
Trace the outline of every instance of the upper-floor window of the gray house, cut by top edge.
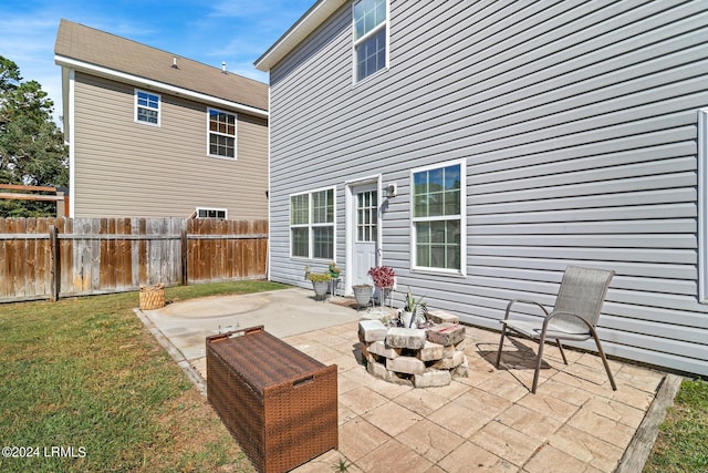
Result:
{"label": "upper-floor window of the gray house, cut by top edge", "polygon": [[387,66],[386,0],[354,2],[354,69],[356,82]]}

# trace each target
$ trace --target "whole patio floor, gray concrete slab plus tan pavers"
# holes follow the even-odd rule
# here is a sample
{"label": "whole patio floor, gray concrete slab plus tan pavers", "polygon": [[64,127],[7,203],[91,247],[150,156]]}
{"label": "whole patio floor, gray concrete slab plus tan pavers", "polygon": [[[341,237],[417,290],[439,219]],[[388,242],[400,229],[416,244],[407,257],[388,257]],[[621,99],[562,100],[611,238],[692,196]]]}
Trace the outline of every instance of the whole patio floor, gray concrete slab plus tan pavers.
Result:
{"label": "whole patio floor, gray concrete slab plus tan pavers", "polygon": [[340,448],[299,473],[332,471],[340,460],[351,464],[350,472],[614,472],[628,450],[648,453],[650,445],[633,440],[653,442],[637,432],[671,374],[611,360],[618,387],[613,391],[600,358],[569,349],[565,366],[558,350],[549,349],[532,394],[529,357],[535,345],[507,342],[498,370],[490,353],[499,333],[467,327],[468,378],[442,388],[391,384],[362,364],[362,313],[312,296],[285,289],[137,312],[176,360],[181,357],[183,368],[198,372],[197,382],[208,376],[205,338],[219,326],[264,325],[319,361],[336,363]]}

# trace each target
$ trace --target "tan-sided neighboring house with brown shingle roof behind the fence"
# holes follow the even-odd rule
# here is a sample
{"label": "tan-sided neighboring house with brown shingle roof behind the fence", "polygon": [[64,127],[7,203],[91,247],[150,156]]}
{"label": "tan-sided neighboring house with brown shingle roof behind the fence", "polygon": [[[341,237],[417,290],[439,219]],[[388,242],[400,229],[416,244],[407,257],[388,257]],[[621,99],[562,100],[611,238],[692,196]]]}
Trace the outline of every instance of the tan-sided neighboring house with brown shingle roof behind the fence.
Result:
{"label": "tan-sided neighboring house with brown shingle roof behind the fence", "polygon": [[72,217],[268,218],[268,84],[61,20]]}

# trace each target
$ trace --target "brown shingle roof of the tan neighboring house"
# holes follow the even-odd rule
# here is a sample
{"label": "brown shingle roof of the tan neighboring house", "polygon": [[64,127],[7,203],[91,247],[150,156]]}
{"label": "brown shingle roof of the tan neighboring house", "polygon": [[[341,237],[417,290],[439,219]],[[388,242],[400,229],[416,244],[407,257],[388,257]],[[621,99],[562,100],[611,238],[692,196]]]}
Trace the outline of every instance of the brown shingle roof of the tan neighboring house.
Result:
{"label": "brown shingle roof of the tan neighboring house", "polygon": [[[54,54],[242,105],[268,110],[268,85],[62,19]],[[177,58],[177,68],[173,68]]]}

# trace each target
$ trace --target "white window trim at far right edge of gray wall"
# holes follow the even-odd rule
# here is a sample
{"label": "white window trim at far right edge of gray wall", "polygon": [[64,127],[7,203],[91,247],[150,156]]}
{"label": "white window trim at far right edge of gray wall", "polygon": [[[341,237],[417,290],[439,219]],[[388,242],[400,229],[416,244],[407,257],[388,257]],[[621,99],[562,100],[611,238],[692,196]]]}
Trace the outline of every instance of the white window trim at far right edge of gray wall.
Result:
{"label": "white window trim at far right edge of gray wall", "polygon": [[708,109],[698,111],[698,300],[708,304]]}

